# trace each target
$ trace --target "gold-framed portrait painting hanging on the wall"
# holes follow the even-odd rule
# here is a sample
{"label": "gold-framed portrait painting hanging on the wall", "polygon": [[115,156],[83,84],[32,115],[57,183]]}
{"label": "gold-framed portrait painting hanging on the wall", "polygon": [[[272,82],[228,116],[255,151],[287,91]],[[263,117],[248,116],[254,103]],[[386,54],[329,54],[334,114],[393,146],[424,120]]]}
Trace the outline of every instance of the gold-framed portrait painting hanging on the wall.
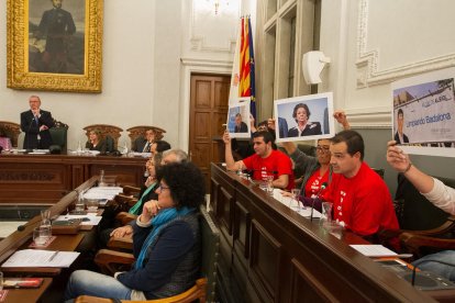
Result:
{"label": "gold-framed portrait painting hanging on the wall", "polygon": [[103,0],[82,1],[8,0],[9,88],[101,92]]}

